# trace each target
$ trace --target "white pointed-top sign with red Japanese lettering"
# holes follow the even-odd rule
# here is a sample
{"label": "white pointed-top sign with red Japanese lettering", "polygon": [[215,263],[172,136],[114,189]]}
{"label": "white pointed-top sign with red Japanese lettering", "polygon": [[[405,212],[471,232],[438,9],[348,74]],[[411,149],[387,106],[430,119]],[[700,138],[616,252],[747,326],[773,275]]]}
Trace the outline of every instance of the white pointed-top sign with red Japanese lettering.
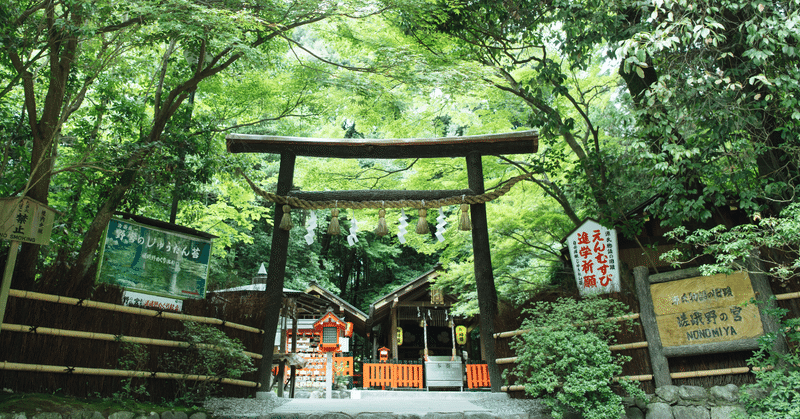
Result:
{"label": "white pointed-top sign with red Japanese lettering", "polygon": [[567,244],[581,295],[619,292],[616,230],[586,220],[567,237]]}

